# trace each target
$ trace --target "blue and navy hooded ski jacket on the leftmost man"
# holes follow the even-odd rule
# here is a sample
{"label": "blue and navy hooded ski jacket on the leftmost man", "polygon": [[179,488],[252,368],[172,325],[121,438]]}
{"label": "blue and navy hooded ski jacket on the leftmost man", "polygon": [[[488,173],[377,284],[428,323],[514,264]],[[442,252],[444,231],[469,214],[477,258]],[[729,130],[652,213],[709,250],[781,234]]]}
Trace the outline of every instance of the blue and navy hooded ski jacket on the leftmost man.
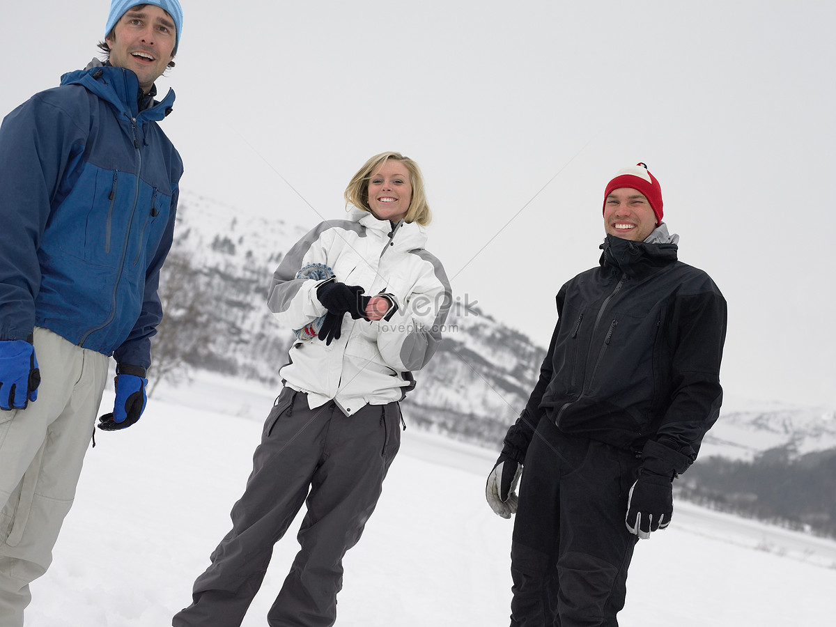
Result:
{"label": "blue and navy hooded ski jacket on the leftmost man", "polygon": [[174,92],[143,110],[138,94],[133,72],[99,64],[3,120],[0,339],[37,325],[150,365],[183,166],[157,125]]}

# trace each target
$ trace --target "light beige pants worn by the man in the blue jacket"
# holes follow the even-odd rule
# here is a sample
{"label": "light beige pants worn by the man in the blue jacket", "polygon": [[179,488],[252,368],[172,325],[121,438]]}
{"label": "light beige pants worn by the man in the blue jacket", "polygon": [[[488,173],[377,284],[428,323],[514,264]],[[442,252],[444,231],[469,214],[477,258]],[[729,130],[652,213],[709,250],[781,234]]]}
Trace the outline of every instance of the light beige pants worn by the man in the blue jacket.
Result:
{"label": "light beige pants worn by the man in the blue jacket", "polygon": [[23,625],[29,584],[46,572],[75,497],[108,358],[47,329],[33,344],[38,400],[0,412],[0,624]]}

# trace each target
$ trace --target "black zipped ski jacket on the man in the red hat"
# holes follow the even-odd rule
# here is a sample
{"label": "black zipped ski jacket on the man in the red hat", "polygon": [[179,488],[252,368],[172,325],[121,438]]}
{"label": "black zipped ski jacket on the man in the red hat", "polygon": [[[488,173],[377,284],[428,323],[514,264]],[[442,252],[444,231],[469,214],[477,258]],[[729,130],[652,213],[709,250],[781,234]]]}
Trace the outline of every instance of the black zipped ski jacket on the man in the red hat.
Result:
{"label": "black zipped ski jacket on the man in the red hat", "polygon": [[558,293],[538,384],[502,452],[522,463],[547,417],[685,472],[720,413],[726,300],[706,273],[677,261],[674,243],[607,236],[601,248],[599,268]]}

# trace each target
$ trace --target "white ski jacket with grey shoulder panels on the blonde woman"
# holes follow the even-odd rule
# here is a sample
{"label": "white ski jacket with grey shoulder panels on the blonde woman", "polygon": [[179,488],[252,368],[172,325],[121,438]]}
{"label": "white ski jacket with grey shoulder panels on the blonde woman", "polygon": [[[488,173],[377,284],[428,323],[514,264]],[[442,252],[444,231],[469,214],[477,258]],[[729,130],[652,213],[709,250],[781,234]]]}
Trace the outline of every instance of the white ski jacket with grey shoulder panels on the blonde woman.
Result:
{"label": "white ski jacket with grey shoulder panels on the blonde woman", "polygon": [[298,340],[279,374],[285,385],[308,394],[311,409],[334,400],[345,415],[364,405],[403,399],[441,343],[450,309],[450,283],[441,263],[424,249],[418,224],[378,220],[354,209],[348,220],[322,222],[297,242],[273,273],[268,307],[278,320],[302,329],[326,313],[317,288],[324,281],[296,278],[301,268],[323,263],[336,280],[360,285],[366,296],[385,293],[395,308],[385,319],[343,318],[341,336]]}

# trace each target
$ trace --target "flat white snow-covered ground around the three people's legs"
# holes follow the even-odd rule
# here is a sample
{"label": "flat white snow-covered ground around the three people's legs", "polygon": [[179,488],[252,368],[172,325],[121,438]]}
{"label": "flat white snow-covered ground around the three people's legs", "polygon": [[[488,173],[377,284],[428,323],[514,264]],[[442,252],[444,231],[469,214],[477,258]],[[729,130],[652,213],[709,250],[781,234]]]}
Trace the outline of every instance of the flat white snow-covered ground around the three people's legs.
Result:
{"label": "flat white snow-covered ground around the three people's legs", "polygon": [[[54,564],[32,586],[27,627],[170,625],[228,530],[277,393],[201,376],[157,390],[129,430],[97,433]],[[483,496],[495,458],[414,427],[402,433],[377,511],[344,562],[339,627],[508,624],[512,523]],[[244,625],[266,624],[299,520]],[[833,590],[836,543],[678,502],[671,527],[636,548],[619,618],[622,627],[825,624]]]}

